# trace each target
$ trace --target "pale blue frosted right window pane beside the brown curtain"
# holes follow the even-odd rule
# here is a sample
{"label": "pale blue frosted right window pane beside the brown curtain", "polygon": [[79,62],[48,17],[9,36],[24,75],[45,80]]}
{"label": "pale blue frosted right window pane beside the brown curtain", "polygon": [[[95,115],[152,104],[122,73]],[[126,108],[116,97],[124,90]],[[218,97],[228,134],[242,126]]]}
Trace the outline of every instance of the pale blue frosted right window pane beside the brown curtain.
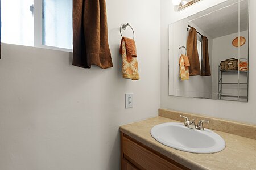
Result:
{"label": "pale blue frosted right window pane beside the brown curtain", "polygon": [[72,49],[72,0],[43,0],[42,44]]}

